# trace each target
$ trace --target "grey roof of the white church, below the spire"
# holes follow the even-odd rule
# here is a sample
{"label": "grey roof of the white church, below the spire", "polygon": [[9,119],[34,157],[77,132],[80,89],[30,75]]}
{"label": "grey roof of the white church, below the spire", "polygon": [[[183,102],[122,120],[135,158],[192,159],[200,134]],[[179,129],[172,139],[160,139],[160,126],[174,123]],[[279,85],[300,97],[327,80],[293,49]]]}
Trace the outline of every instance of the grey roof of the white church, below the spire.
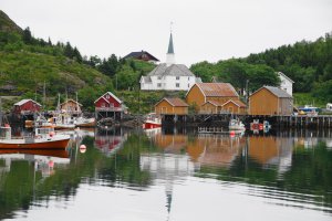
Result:
{"label": "grey roof of the white church, below the spire", "polygon": [[190,70],[184,64],[163,63],[156,66],[147,76],[195,76]]}

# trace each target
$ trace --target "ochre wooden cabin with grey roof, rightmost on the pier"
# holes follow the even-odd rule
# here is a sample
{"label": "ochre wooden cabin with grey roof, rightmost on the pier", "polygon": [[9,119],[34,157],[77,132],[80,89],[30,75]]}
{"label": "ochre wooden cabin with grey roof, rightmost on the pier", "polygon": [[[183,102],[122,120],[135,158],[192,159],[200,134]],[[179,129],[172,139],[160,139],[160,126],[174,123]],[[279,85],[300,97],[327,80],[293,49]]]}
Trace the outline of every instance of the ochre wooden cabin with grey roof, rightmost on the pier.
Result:
{"label": "ochre wooden cabin with grey roof, rightmost on the pier", "polygon": [[293,99],[286,91],[263,86],[249,96],[250,115],[292,115]]}

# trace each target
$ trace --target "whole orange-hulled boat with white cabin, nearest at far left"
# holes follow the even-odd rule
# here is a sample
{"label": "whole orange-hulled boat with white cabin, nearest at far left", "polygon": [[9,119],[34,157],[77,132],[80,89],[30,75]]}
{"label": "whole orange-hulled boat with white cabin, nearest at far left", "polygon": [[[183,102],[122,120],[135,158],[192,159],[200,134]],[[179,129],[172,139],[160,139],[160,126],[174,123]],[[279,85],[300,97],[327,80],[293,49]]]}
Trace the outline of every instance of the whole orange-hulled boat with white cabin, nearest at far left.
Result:
{"label": "whole orange-hulled boat with white cabin, nearest at far left", "polygon": [[0,127],[0,148],[7,149],[48,149],[48,148],[66,148],[70,136],[56,135],[53,128],[35,128],[34,136],[12,137],[11,127],[6,125]]}

